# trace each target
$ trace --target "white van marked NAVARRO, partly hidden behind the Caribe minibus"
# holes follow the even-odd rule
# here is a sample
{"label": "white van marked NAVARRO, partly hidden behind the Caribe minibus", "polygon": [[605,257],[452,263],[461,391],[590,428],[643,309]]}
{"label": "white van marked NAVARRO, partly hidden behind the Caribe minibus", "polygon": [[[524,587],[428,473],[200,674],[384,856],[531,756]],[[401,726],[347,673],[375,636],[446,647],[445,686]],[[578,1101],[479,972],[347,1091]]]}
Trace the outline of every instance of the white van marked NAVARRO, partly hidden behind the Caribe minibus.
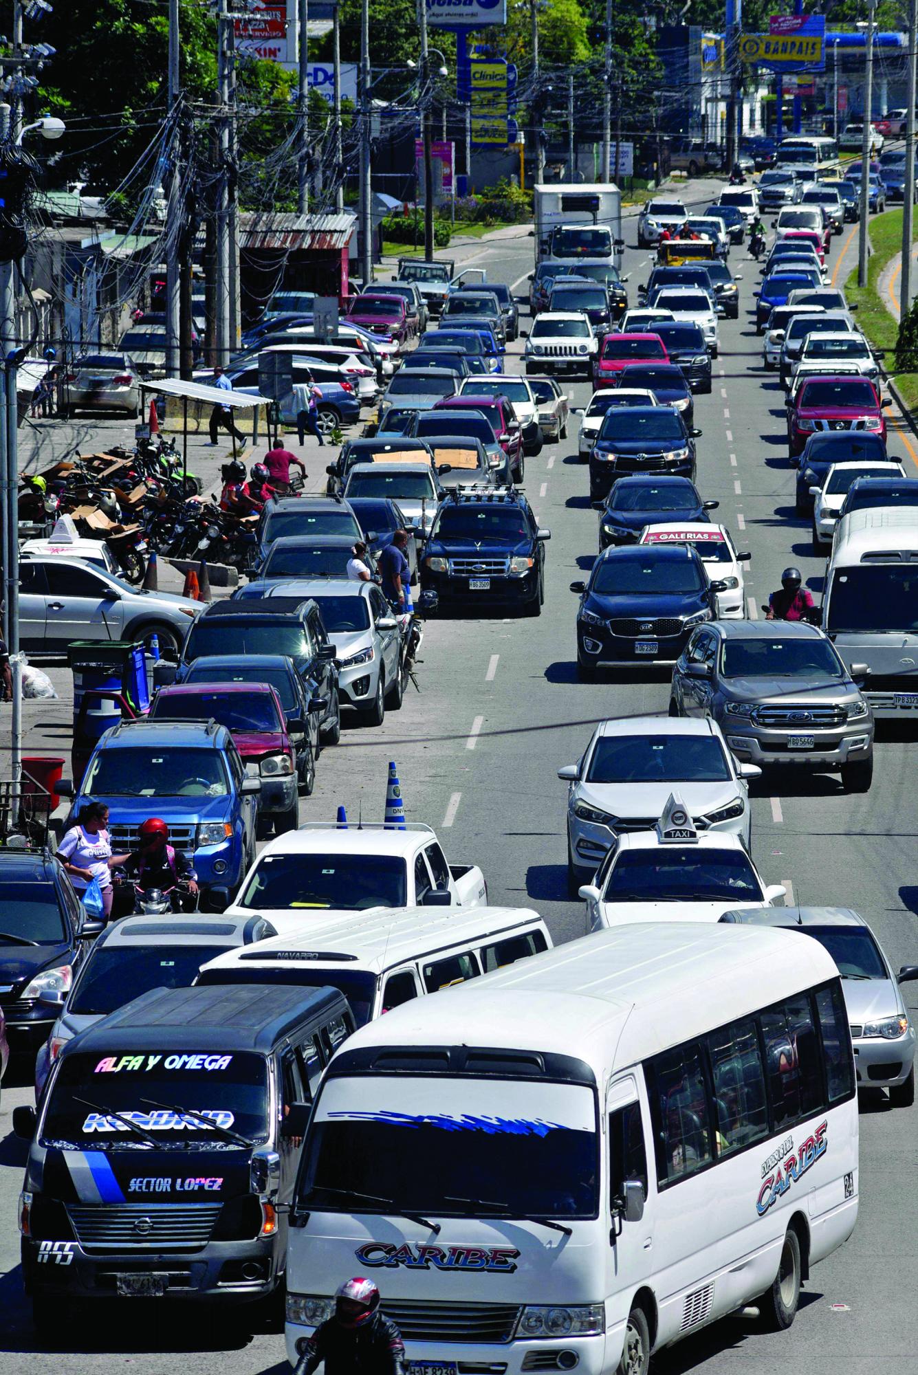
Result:
{"label": "white van marked NAVARRO, partly hidden behind the Caribe minibus", "polygon": [[548,928],[529,908],[379,909],[317,917],[294,936],[227,950],[202,965],[195,983],[295,983],[339,989],[357,1026],[412,998],[451,989],[551,949]]}

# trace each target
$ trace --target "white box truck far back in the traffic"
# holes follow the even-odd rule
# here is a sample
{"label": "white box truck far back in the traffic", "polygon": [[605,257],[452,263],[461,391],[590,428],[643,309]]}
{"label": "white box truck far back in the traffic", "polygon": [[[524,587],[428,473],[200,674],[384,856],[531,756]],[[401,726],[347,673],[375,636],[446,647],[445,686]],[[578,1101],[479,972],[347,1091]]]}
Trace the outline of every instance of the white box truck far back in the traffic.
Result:
{"label": "white box truck far back in the traffic", "polygon": [[537,186],[533,192],[536,264],[606,263],[621,267],[621,191],[598,182]]}

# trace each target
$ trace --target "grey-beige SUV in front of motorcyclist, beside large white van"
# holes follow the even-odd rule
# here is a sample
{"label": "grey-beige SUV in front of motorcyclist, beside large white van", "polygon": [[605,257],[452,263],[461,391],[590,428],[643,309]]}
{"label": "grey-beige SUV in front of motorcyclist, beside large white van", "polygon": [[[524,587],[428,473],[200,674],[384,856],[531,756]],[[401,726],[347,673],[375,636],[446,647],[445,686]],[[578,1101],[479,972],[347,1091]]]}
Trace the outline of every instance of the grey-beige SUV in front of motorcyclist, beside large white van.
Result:
{"label": "grey-beige SUV in front of motorcyclist, beside large white van", "polygon": [[837,769],[847,792],[867,792],[874,720],[856,686],[862,668],[849,675],[805,622],[708,622],[676,660],[669,714],[713,716],[739,760]]}

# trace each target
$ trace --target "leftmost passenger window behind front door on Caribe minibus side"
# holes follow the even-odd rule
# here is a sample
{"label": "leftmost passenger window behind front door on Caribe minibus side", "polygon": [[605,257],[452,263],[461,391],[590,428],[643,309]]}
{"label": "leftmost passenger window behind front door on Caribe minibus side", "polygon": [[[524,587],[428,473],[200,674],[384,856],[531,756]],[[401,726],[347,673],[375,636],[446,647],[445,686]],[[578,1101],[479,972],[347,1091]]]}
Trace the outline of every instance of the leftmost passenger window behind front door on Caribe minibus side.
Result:
{"label": "leftmost passenger window behind front door on Caribe minibus side", "polygon": [[712,1162],[708,1088],[694,1044],[664,1050],[649,1062],[657,1178],[672,1184]]}

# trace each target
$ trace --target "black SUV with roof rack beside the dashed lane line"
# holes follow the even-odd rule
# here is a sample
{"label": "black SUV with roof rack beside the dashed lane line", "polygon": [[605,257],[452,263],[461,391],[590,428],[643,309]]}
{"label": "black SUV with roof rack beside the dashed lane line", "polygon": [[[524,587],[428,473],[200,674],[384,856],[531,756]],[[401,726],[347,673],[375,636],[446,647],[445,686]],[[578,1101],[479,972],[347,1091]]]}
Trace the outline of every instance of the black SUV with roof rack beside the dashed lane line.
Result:
{"label": "black SUV with roof rack beside the dashed lane line", "polygon": [[513,487],[456,492],[440,505],[421,568],[421,604],[470,605],[492,615],[495,602],[537,616],[546,590],[546,540],[529,502]]}

